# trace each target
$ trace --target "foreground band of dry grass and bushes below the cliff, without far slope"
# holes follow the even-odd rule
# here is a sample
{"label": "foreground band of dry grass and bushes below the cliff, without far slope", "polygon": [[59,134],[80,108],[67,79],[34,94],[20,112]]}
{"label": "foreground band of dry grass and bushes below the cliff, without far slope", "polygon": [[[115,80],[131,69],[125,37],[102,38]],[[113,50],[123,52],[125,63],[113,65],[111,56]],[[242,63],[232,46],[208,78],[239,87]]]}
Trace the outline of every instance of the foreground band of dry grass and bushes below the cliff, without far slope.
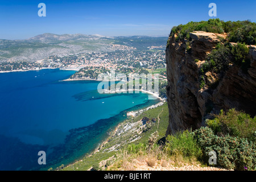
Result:
{"label": "foreground band of dry grass and bushes below the cliff, without far slope", "polygon": [[[131,143],[127,150],[120,153],[118,162],[110,169],[134,169],[132,162],[138,158],[144,158],[150,167],[155,166],[156,161],[160,159],[165,159],[162,166],[167,166],[170,160],[177,166],[180,162],[197,162],[204,165],[208,164],[209,152],[215,151],[217,166],[226,169],[255,170],[255,118],[234,109],[226,114],[221,111],[216,117],[219,120],[208,120],[207,127],[201,127],[193,132],[185,130],[168,135],[164,146],[152,144],[158,133],[152,133],[147,144]],[[225,133],[220,132],[223,126],[220,126],[220,123],[227,123],[223,129]]]}

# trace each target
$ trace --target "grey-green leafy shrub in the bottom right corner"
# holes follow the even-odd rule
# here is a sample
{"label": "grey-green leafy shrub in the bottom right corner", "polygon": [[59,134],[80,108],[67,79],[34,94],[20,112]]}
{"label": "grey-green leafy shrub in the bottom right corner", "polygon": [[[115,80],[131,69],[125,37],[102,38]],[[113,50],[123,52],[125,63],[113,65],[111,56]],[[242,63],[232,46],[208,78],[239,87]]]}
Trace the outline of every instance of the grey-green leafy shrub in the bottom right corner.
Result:
{"label": "grey-green leafy shrub in the bottom right corner", "polygon": [[218,137],[209,127],[201,127],[193,134],[203,151],[204,162],[208,162],[209,152],[215,151],[218,166],[237,170],[247,167],[249,170],[255,170],[255,143],[248,142],[246,138],[230,137],[229,135]]}

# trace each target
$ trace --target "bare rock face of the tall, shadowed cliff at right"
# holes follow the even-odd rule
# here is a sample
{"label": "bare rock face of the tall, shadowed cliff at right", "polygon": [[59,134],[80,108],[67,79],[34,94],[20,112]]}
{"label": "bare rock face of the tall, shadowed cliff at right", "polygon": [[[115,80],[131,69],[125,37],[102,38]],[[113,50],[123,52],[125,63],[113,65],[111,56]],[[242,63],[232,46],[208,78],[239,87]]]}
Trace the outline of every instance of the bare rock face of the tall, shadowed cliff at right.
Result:
{"label": "bare rock face of the tall, shadowed cliff at right", "polygon": [[[216,88],[200,88],[200,65],[220,42],[220,36],[225,38],[209,32],[192,32],[189,47],[187,40],[176,42],[176,35],[169,38],[166,60],[170,121],[166,135],[177,130],[197,129],[204,125],[209,113],[217,114],[220,109],[235,107],[252,116],[256,114],[256,46],[249,47],[251,63],[247,73],[230,64]],[[213,73],[205,75],[206,82],[216,79]]]}

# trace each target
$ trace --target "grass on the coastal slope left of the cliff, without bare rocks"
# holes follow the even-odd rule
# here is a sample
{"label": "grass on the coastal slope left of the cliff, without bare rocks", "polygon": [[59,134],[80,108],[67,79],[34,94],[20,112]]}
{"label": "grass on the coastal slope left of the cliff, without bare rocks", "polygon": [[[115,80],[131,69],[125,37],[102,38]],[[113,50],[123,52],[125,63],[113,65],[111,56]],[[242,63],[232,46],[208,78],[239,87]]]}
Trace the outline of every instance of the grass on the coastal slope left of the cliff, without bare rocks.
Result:
{"label": "grass on the coastal slope left of the cliff, without bare rocks", "polygon": [[[163,111],[162,111],[163,110]],[[162,111],[162,113],[159,115],[159,113]],[[129,143],[128,141],[134,137],[135,132],[133,131],[131,133],[122,133],[120,136],[116,135],[111,135],[108,138],[108,143],[104,144],[104,147],[97,152],[96,154],[90,155],[90,156],[85,156],[83,159],[77,161],[76,163],[73,163],[69,166],[64,167],[62,170],[65,171],[73,171],[73,170],[88,170],[92,166],[97,166],[100,162],[103,160],[107,160],[110,158],[114,158],[110,160],[110,164],[115,162],[115,167],[116,169],[125,167],[125,169],[132,169],[133,165],[129,164],[132,159],[137,158],[137,156],[147,156],[146,155],[146,145],[148,143],[148,137],[152,133],[154,133],[156,130],[158,130],[159,133],[159,138],[164,137],[166,133],[166,129],[168,126],[168,107],[167,103],[165,103],[162,106],[156,107],[155,109],[150,109],[147,111],[144,111],[141,115],[138,115],[137,117],[127,119],[127,121],[122,123],[122,126],[125,125],[131,125],[131,123],[136,123],[139,120],[141,120],[143,117],[148,117],[148,118],[160,118],[159,126],[158,126],[158,121],[156,121],[152,126],[151,129],[141,133],[140,137],[138,140],[135,140],[134,142]],[[122,126],[120,128],[122,128]],[[134,126],[135,129],[142,130],[142,126]],[[117,151],[110,151],[109,149],[113,146],[119,146],[116,148]],[[140,144],[140,146],[136,146],[137,144]],[[127,148],[131,146],[130,152],[127,150]],[[144,147],[143,147],[144,146]],[[155,150],[152,150],[155,151]],[[159,153],[159,152],[158,152]],[[158,154],[160,156],[160,154]],[[118,159],[118,160],[116,160]],[[114,167],[114,168],[115,168]],[[113,167],[112,167],[113,168]],[[104,166],[100,166],[99,169],[106,169]],[[108,168],[109,169],[109,168]]]}

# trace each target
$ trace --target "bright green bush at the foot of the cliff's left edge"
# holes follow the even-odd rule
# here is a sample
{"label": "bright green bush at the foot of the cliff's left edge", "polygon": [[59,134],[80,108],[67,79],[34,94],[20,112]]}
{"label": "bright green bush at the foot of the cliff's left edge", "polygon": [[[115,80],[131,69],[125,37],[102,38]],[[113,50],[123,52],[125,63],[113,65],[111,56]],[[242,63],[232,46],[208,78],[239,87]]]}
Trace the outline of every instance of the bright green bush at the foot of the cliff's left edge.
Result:
{"label": "bright green bush at the foot of the cliff's left edge", "polygon": [[164,151],[169,155],[195,156],[200,158],[201,148],[197,145],[193,134],[188,130],[183,133],[177,132],[174,135],[168,135]]}

